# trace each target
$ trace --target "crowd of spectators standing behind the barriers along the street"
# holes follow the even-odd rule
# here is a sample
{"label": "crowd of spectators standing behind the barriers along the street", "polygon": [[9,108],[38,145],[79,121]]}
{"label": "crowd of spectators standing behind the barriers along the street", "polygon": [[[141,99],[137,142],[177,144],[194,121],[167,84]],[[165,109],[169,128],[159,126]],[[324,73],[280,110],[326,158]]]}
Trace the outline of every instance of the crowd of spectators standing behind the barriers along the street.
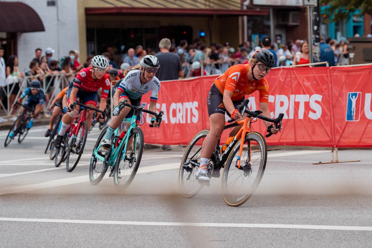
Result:
{"label": "crowd of spectators standing behind the barriers along the street", "polygon": [[[349,52],[346,40],[339,43],[334,39],[323,37],[320,38],[321,61],[328,61],[329,66],[346,65],[349,63]],[[295,40],[283,42],[277,36],[275,42],[270,37],[264,36],[259,46],[254,48],[249,41],[240,44],[237,48],[230,46],[229,42],[225,44],[211,43],[206,46],[200,39],[194,39],[192,44],[186,40],[181,40],[176,44],[167,38],[159,43],[159,51],[153,51],[147,47],[144,49],[141,45],[135,48],[129,48],[125,54],[118,56],[115,49],[107,47],[106,52],[102,55],[109,60],[108,75],[112,80],[122,78],[122,73],[127,68],[136,66],[145,55],[155,55],[161,61],[161,68],[167,68],[167,72],[160,69],[157,73],[159,80],[172,80],[182,77],[198,77],[208,74],[222,74],[231,65],[244,63],[251,58],[253,52],[259,48],[267,48],[273,52],[276,58],[276,66],[301,65],[308,64],[309,44],[305,40]],[[47,77],[48,87],[45,96],[48,102],[51,93],[54,90],[54,82],[50,80],[54,75],[64,74],[68,81],[74,78],[82,68],[90,66],[94,55],[87,56],[85,62],[80,63],[79,52],[71,50],[67,56],[54,59],[54,49],[47,48],[43,51],[41,48],[35,49],[35,57],[31,59],[29,68],[24,73],[18,67],[18,58],[10,55],[6,60],[3,58],[4,48],[0,46],[0,100],[8,97],[9,102],[14,102],[16,94],[19,91],[19,83],[25,76],[30,77],[30,81],[38,79],[43,82]],[[119,63],[118,66],[116,63]],[[45,86],[44,86],[45,87]],[[5,90],[6,89],[6,90]],[[0,104],[1,109],[1,104]]]}

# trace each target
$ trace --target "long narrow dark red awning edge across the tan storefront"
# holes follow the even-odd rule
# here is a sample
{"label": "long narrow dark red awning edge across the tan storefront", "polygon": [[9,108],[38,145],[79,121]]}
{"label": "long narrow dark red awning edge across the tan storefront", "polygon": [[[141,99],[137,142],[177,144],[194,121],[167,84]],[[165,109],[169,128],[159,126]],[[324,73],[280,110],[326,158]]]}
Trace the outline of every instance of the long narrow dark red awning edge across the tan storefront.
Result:
{"label": "long narrow dark red awning edge across the tan storefront", "polygon": [[138,7],[100,7],[85,8],[86,15],[195,15],[195,16],[262,16],[269,15],[267,9],[185,9],[185,8],[138,8]]}

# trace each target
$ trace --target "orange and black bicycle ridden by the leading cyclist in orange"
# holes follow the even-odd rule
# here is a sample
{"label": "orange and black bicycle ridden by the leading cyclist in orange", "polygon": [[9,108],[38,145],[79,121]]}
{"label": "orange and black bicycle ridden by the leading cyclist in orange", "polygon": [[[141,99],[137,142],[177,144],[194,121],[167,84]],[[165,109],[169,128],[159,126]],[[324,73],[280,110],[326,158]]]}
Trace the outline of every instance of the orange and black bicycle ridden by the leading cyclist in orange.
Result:
{"label": "orange and black bicycle ridden by the leading cyclist in orange", "polygon": [[[251,124],[257,119],[262,119],[274,123],[279,131],[282,129],[283,114],[279,114],[276,119],[268,118],[261,115],[260,110],[250,111],[247,107],[248,102],[249,100],[246,99],[238,106],[241,115],[246,113],[247,117],[224,128],[225,130],[241,125],[241,129],[223,154],[220,153],[220,139],[218,139],[216,149],[207,164],[209,177],[219,177],[221,168],[224,168],[221,178],[222,197],[230,206],[240,206],[253,195],[265,170],[266,141],[261,133],[251,131]],[[231,119],[228,122],[234,122],[234,120]],[[195,174],[200,164],[202,144],[208,133],[208,129],[198,132],[183,155],[178,177],[178,186],[183,197],[196,196],[206,185],[200,183]],[[268,133],[266,137],[271,135],[272,133]]]}

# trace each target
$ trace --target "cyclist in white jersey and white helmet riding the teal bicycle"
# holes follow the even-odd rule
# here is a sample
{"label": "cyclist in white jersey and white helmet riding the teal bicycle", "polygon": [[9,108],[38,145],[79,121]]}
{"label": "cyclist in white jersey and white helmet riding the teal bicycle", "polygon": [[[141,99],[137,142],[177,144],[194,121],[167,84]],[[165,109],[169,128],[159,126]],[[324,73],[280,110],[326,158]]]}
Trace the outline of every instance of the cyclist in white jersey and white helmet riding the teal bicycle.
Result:
{"label": "cyclist in white jersey and white helmet riding the teal bicycle", "polygon": [[[130,107],[124,107],[124,109],[118,113],[120,102],[127,100],[131,105],[140,106],[142,95],[151,91],[149,110],[156,112],[160,81],[155,77],[155,74],[159,67],[158,58],[153,55],[146,55],[140,61],[139,70],[133,70],[136,67],[132,68],[123,79],[115,84],[112,90],[115,108],[112,112],[112,120],[101,143],[103,148],[109,149],[111,147],[110,139],[115,129],[120,126],[124,118],[129,118],[133,115],[134,110]],[[139,118],[140,116],[137,116],[137,120],[139,120]],[[154,121],[154,127],[158,126],[155,116],[152,116],[151,121]]]}

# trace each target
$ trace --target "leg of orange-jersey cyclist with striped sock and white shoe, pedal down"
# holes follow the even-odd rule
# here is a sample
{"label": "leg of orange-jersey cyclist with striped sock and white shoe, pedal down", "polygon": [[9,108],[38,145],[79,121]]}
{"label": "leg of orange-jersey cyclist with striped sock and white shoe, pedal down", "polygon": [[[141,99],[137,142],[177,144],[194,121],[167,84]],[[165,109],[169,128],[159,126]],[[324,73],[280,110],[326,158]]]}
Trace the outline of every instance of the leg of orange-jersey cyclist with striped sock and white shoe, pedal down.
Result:
{"label": "leg of orange-jersey cyclist with striped sock and white shoe, pedal down", "polygon": [[209,123],[211,124],[210,131],[205,137],[202,151],[201,151],[201,162],[199,170],[196,173],[198,180],[209,181],[210,178],[207,177],[207,162],[214,152],[215,146],[225,126],[225,115],[220,113],[215,113],[209,116]]}

